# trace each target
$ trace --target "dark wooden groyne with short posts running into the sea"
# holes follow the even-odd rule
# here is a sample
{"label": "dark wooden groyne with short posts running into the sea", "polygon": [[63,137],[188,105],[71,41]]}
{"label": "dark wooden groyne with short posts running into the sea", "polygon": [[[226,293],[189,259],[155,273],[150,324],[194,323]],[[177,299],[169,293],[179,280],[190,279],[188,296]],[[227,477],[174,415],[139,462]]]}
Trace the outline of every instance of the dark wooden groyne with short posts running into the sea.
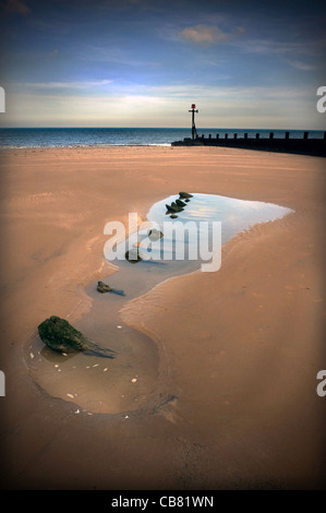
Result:
{"label": "dark wooden groyne with short posts running into the sea", "polygon": [[244,133],[243,136],[238,136],[238,133],[234,133],[233,136],[228,133],[220,136],[217,133],[215,136],[209,134],[208,138],[204,135],[195,139],[185,138],[183,141],[172,142],[171,145],[238,147],[326,157],[326,132],[324,132],[324,139],[310,139],[309,132],[304,132],[302,139],[291,139],[290,132],[286,132],[285,138],[275,138],[274,132],[270,132],[268,138],[262,138],[259,133],[254,136],[249,136],[247,133]]}

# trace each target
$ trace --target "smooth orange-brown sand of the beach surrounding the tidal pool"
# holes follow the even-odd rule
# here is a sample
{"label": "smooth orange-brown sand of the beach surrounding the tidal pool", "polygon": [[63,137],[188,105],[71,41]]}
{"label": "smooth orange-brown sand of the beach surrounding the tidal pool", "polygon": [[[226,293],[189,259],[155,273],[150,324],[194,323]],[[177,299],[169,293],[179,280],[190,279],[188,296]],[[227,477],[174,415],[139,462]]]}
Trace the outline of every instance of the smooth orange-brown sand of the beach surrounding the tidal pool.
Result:
{"label": "smooth orange-brown sand of the beach surrounding the tidal pool", "polygon": [[[25,148],[2,150],[0,170],[2,488],[325,487],[323,158]],[[89,326],[89,286],[114,273],[105,224],[126,223],[129,212],[145,219],[180,190],[294,212],[231,239],[218,272],[169,279],[123,306],[123,326],[149,337],[142,372],[150,379],[132,383],[143,386],[140,407],[119,401],[96,414],[70,390],[53,397],[33,371],[37,325],[56,314]]]}

